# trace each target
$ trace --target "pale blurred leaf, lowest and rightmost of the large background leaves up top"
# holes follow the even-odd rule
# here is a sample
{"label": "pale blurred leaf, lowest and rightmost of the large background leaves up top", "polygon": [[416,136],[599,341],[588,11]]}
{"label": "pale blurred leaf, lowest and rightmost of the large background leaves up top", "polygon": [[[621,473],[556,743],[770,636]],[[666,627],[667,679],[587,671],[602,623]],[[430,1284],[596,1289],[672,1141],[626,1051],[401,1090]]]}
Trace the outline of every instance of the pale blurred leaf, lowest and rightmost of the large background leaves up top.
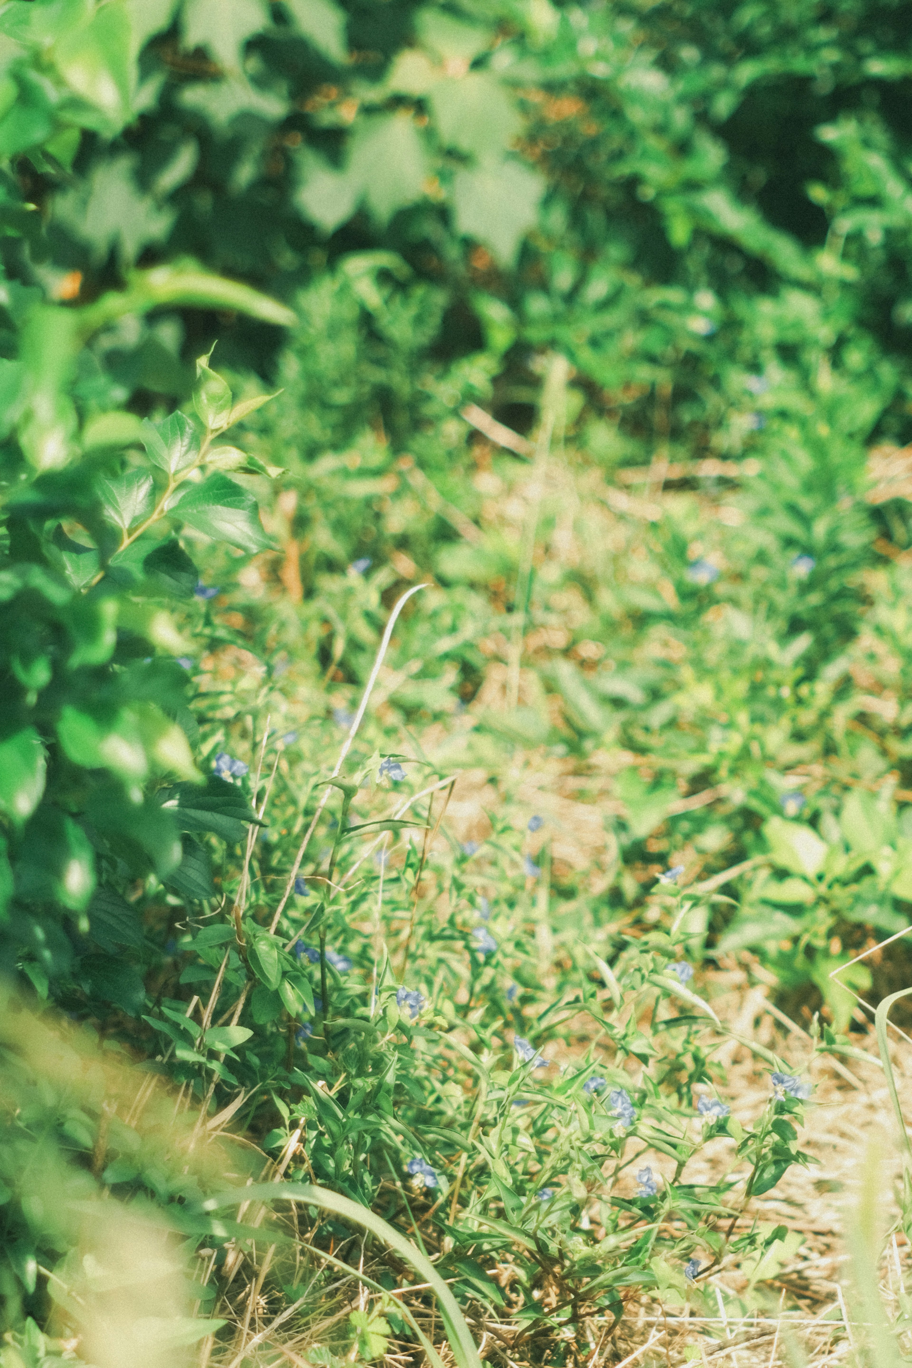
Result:
{"label": "pale blurred leaf, lowest and rightmost of the large background leaves up top", "polygon": [[457,231],[476,238],[511,265],[520,242],[537,220],[544,181],[521,161],[485,161],[453,178]]}

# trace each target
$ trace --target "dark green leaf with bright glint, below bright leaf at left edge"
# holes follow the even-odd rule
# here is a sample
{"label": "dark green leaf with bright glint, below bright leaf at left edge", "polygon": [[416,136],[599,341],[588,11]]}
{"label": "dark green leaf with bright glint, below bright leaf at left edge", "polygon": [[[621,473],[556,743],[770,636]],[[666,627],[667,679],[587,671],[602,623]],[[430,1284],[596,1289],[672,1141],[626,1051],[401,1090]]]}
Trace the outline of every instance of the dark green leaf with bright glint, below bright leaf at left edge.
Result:
{"label": "dark green leaf with bright glint, below bright leaf at left edge", "polygon": [[25,900],[83,912],[96,886],[94,851],[82,828],[57,807],[40,807],[25,830],[15,866]]}

